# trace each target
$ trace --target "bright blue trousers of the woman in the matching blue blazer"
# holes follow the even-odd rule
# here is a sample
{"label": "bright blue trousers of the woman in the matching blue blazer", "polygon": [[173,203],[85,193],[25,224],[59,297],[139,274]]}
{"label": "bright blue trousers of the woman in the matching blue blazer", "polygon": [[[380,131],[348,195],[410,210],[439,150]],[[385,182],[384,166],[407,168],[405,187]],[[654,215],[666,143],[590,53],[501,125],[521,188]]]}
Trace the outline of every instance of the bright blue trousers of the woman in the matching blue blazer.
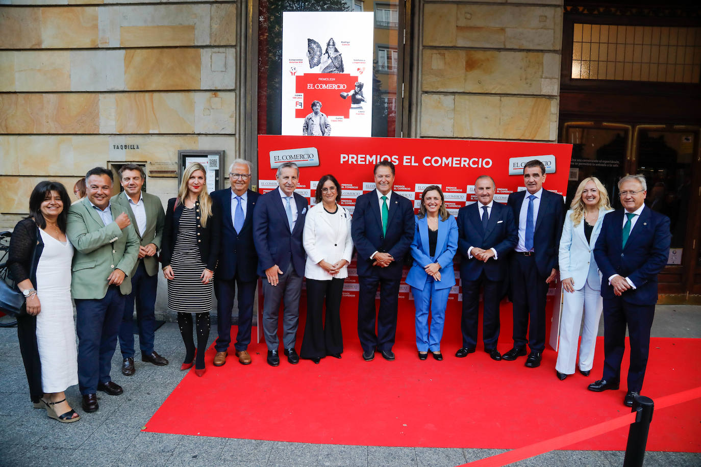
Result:
{"label": "bright blue trousers of the woman in the matching blue blazer", "polygon": [[[448,305],[450,287],[436,288],[436,281],[427,275],[422,288],[411,287],[416,307],[416,348],[420,352],[440,351],[443,337],[445,307]],[[430,332],[428,329],[428,310],[431,311]]]}

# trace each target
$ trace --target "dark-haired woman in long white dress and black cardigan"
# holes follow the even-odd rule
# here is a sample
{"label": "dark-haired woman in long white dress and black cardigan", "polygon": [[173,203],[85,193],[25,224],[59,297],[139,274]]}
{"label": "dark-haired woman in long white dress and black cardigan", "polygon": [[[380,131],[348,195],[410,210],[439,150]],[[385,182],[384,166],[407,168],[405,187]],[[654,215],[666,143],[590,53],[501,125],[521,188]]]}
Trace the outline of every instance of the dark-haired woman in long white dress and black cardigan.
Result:
{"label": "dark-haired woman in long white dress and black cardigan", "polygon": [[80,419],[64,391],[78,384],[71,302],[73,246],[66,237],[71,201],[61,183],[42,181],[29,197],[29,216],[13,230],[8,267],[27,300],[18,338],[35,408],[68,423]]}

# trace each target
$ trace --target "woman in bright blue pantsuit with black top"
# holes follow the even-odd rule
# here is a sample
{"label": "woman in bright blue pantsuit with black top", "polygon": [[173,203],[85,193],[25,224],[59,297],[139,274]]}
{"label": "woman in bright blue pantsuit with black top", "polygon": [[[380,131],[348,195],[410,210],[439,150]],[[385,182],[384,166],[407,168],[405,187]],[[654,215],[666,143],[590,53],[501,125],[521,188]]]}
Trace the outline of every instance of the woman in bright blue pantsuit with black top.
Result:
{"label": "woman in bright blue pantsuit with black top", "polygon": [[407,284],[411,286],[416,307],[418,358],[426,360],[430,350],[433,358],[442,360],[440,340],[448,294],[455,285],[453,257],[458,249],[458,224],[445,209],[439,186],[432,185],[423,190],[421,208],[415,220],[414,242],[411,242],[414,265],[407,274]]}

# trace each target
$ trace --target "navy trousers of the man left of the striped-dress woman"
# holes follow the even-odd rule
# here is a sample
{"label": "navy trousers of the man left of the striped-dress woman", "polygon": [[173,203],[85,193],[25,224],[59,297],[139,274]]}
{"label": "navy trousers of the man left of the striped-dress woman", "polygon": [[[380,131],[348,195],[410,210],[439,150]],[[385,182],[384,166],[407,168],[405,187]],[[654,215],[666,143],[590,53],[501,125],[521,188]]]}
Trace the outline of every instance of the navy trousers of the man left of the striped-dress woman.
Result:
{"label": "navy trousers of the man left of the striped-dress woman", "polygon": [[132,276],[132,291],[124,298],[124,314],[119,327],[119,349],[122,358],[134,358],[134,334],[132,319],[134,316],[134,301],[136,300],[136,322],[139,326],[139,347],[142,355],[154,351],[154,333],[156,333],[156,288],[158,275],[149,276],[144,263],[139,260],[139,266]]}

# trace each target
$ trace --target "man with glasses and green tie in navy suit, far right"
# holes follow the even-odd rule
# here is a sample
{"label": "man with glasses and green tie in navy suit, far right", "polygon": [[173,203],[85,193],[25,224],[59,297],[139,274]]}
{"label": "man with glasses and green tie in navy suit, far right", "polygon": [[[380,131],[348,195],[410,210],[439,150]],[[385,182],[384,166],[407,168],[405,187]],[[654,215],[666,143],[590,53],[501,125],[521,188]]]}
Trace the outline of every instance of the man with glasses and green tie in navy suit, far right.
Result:
{"label": "man with glasses and green tie in navy suit, far right", "polygon": [[618,181],[623,207],[604,217],[594,246],[604,298],[604,375],[589,389],[618,389],[627,326],[630,368],[623,403],[628,407],[643,387],[658,300],[658,274],[667,264],[672,242],[669,218],[645,206],[646,189],[642,175],[628,175]]}

